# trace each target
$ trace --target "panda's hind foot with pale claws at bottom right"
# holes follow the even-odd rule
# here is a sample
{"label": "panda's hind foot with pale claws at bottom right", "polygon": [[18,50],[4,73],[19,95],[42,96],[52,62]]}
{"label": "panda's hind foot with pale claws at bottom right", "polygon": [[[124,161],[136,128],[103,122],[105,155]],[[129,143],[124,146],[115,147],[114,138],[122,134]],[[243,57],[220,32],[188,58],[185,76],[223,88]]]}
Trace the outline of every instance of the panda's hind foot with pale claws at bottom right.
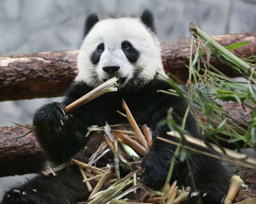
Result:
{"label": "panda's hind foot with pale claws at bottom right", "polygon": [[226,191],[220,188],[191,190],[188,195],[189,204],[220,204]]}

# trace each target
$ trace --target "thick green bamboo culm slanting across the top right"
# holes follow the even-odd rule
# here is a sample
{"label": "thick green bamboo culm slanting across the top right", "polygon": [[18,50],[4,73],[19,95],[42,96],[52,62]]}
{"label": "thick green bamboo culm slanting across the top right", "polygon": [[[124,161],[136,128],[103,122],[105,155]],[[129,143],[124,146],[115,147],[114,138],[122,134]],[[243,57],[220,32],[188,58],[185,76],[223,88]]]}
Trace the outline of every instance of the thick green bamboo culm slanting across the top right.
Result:
{"label": "thick green bamboo culm slanting across the top right", "polygon": [[243,71],[248,73],[249,75],[252,72],[252,75],[256,77],[256,72],[254,71],[255,67],[250,66],[246,62],[244,62],[242,59],[231,53],[229,50],[218,44],[214,39],[212,39],[209,35],[207,35],[205,32],[200,30],[195,24],[190,23],[189,31],[192,35],[199,36],[201,39],[203,39],[205,42],[208,42],[215,50],[218,50],[220,53],[222,53],[224,56],[226,56],[228,59],[235,62]]}

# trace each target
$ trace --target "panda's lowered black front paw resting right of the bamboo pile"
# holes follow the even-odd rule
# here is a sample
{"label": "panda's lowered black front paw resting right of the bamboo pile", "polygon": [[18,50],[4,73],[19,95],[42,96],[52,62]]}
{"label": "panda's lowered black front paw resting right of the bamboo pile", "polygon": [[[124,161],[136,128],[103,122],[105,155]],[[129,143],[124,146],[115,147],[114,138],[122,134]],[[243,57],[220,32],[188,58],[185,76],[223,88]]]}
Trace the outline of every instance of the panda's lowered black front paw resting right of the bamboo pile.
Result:
{"label": "panda's lowered black front paw resting right of the bamboo pile", "polygon": [[142,181],[151,188],[160,189],[165,184],[169,165],[158,151],[150,150],[142,163]]}

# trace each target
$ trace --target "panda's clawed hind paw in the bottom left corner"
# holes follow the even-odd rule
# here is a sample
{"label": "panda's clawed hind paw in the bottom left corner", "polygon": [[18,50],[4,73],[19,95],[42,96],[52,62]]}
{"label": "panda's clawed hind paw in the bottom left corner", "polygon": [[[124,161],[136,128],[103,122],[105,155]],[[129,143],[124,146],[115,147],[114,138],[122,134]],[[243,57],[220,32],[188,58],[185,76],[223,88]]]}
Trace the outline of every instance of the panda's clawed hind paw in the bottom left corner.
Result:
{"label": "panda's clawed hind paw in the bottom left corner", "polygon": [[18,189],[5,193],[1,204],[39,204],[39,199],[32,193]]}

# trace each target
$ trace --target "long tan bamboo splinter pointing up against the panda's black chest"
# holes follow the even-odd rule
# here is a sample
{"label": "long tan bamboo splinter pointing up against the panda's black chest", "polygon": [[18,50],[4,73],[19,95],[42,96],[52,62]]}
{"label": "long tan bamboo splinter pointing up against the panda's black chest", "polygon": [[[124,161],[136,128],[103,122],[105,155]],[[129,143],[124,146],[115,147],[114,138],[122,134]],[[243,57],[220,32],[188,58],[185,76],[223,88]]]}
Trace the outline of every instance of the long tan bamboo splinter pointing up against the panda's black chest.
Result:
{"label": "long tan bamboo splinter pointing up against the panda's black chest", "polygon": [[138,124],[134,120],[134,117],[132,116],[131,111],[129,110],[128,106],[126,105],[124,99],[122,100],[122,106],[125,109],[125,112],[127,114],[127,119],[130,122],[132,129],[137,133],[141,144],[143,144],[143,146],[146,148],[146,150],[149,151],[149,145],[147,143],[147,140],[145,139],[144,135],[142,134]]}

